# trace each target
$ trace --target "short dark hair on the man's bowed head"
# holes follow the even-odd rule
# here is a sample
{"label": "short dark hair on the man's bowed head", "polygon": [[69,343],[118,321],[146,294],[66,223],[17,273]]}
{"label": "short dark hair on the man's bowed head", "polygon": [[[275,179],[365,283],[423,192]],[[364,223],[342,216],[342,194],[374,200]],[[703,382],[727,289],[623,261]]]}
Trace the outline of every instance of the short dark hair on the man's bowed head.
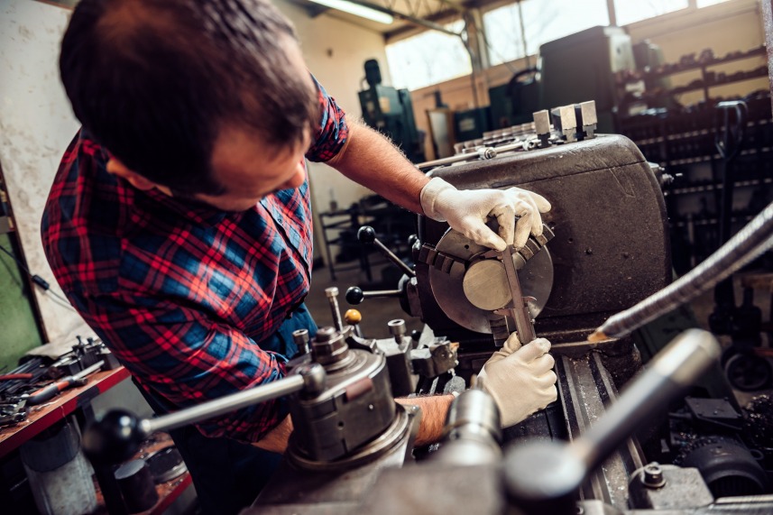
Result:
{"label": "short dark hair on the man's bowed head", "polygon": [[129,169],[217,194],[211,155],[223,124],[290,148],[318,120],[289,44],[292,25],[268,0],[82,0],[60,72],[78,120]]}

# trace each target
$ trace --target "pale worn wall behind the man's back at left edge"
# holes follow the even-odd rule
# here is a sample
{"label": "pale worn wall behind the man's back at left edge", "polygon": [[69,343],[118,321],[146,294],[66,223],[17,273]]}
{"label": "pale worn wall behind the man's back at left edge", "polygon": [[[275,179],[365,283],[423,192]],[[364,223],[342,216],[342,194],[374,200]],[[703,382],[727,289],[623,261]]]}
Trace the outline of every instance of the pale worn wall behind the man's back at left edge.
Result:
{"label": "pale worn wall behind the man's back at left edge", "polygon": [[[30,0],[0,0],[0,162],[24,255],[61,293],[42,251],[41,213],[62,152],[78,130],[60,86],[57,59],[69,11]],[[36,288],[49,341],[90,335],[83,320]]]}

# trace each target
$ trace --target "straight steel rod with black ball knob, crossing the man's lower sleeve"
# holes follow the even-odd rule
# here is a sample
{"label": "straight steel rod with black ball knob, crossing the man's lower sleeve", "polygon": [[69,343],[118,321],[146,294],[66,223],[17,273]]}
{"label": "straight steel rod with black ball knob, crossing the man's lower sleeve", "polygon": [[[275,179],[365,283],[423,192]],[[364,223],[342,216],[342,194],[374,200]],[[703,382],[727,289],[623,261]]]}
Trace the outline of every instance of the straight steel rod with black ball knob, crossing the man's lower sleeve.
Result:
{"label": "straight steel rod with black ball knob, crossing the man's lower sleeve", "polygon": [[[318,366],[321,368],[321,365]],[[302,375],[290,375],[279,381],[267,382],[251,390],[240,391],[222,399],[209,400],[198,406],[180,409],[159,418],[146,418],[140,422],[140,425],[143,432],[147,435],[151,435],[156,431],[169,431],[170,429],[187,426],[207,418],[223,415],[235,409],[290,395],[290,393],[303,390],[305,382],[306,380]]]}

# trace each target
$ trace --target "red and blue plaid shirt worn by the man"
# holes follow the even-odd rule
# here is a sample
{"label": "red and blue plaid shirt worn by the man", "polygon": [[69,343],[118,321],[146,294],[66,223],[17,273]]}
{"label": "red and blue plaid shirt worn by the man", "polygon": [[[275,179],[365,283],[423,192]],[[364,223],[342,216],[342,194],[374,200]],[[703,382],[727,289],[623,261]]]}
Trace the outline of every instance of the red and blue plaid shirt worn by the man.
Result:
{"label": "red and blue plaid shirt worn by the man", "polygon": [[[318,87],[311,161],[345,143],[344,112]],[[76,135],[42,218],[51,269],[73,306],[152,397],[185,408],[284,375],[285,356],[259,343],[308,292],[308,181],[240,213],[134,189],[106,171],[106,152]],[[284,402],[198,426],[210,437],[259,440]]]}

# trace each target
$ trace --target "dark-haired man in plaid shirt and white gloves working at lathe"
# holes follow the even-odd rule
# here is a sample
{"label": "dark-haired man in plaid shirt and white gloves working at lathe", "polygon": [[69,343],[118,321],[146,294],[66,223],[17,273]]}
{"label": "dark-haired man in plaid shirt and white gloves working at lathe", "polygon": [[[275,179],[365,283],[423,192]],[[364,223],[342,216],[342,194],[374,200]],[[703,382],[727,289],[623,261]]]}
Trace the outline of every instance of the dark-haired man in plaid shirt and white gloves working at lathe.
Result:
{"label": "dark-haired man in plaid shirt and white gloves working at lathe", "polygon": [[[83,0],[60,71],[83,128],[52,186],[43,244],[62,290],[157,412],[280,379],[291,332],[316,330],[302,304],[305,158],[497,248],[538,234],[550,208],[521,189],[429,180],[347,122],[267,0]],[[518,347],[513,337],[486,371],[508,423],[556,397],[548,342]],[[451,399],[410,400],[424,410],[420,441],[439,437]],[[271,471],[254,455],[284,450],[287,414],[276,400],[172,432],[205,511],[253,501]]]}

